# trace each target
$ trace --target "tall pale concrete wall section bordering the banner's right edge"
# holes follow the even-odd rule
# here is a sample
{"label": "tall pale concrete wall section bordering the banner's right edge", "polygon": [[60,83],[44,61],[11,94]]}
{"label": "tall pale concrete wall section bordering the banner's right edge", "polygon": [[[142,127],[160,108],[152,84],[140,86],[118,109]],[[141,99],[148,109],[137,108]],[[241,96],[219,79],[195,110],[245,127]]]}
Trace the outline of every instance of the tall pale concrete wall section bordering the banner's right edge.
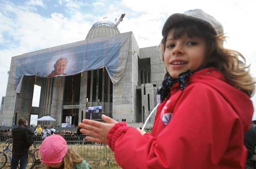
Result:
{"label": "tall pale concrete wall section bordering the banner's right edge", "polygon": [[[138,64],[137,54],[139,47],[131,34],[129,45],[129,53],[125,66],[125,72],[116,85],[113,85],[113,119],[121,121],[126,119],[127,122],[136,121],[136,105],[134,106],[136,97],[136,85],[138,81]],[[133,47],[134,46],[134,47]],[[135,52],[134,52],[135,51]],[[135,75],[134,75],[135,74]],[[134,96],[133,96],[134,95]]]}

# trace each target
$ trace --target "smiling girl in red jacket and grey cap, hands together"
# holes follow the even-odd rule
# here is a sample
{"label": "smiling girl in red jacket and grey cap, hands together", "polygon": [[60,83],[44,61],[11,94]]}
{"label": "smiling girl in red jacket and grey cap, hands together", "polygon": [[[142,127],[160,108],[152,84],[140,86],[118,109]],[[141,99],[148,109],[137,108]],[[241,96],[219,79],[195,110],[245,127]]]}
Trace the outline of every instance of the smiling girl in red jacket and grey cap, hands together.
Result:
{"label": "smiling girl in red jacket and grey cap, hands together", "polygon": [[[166,66],[151,134],[102,115],[83,120],[87,140],[108,143],[123,169],[244,169],[253,78],[223,28],[201,9],[173,14],[160,43]],[[244,59],[245,61],[245,59]]]}

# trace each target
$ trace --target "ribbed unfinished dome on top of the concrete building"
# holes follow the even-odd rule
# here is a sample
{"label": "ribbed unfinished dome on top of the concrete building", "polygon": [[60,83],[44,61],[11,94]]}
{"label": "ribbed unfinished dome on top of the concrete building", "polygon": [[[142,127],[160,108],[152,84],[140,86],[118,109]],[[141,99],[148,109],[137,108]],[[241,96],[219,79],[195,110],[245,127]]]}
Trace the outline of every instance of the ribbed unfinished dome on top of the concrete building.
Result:
{"label": "ribbed unfinished dome on top of the concrete building", "polygon": [[119,30],[111,21],[99,21],[93,24],[88,32],[85,40],[94,39],[97,37],[108,37],[111,34],[119,34]]}

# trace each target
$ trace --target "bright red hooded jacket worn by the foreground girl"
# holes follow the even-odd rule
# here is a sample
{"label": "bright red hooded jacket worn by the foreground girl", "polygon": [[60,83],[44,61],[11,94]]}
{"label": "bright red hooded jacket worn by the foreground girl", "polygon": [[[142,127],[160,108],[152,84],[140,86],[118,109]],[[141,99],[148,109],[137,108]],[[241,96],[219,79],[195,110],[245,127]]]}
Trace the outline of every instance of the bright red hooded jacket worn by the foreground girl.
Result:
{"label": "bright red hooded jacket worn by the foreground girl", "polygon": [[122,169],[245,168],[250,98],[214,68],[188,78],[183,91],[175,84],[158,107],[151,135],[123,122],[111,128],[108,145]]}

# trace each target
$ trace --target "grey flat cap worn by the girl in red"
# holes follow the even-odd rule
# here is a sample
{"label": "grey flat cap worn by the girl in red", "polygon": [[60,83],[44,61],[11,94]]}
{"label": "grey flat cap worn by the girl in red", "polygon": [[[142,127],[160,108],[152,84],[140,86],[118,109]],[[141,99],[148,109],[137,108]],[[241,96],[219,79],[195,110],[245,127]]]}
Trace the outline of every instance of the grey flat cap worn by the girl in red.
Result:
{"label": "grey flat cap worn by the girl in red", "polygon": [[179,21],[173,21],[173,18],[176,16],[184,17],[189,20],[195,20],[202,23],[205,23],[206,25],[210,26],[215,33],[218,34],[224,34],[223,26],[222,24],[216,20],[211,15],[205,13],[202,9],[193,9],[189,11],[185,11],[183,14],[172,14],[165,22],[163,29],[162,29],[162,35],[168,33],[172,26],[174,26],[175,22]]}

